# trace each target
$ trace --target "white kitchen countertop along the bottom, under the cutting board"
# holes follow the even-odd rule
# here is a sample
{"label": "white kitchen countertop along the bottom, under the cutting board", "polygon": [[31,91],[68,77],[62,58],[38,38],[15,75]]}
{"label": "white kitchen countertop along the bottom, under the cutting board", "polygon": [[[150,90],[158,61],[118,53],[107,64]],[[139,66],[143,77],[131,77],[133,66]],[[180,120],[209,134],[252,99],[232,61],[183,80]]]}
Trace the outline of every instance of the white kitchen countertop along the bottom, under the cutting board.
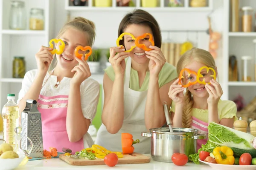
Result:
{"label": "white kitchen countertop along the bottom, under the cutting board", "polygon": [[[149,155],[147,155],[149,156]],[[60,160],[59,158],[29,161],[25,167],[16,168],[15,170],[212,170],[209,165],[197,165],[192,162],[185,166],[176,166],[173,163],[157,162],[152,160],[145,164],[117,164],[115,167],[107,165],[90,165],[90,166],[73,166]]]}

